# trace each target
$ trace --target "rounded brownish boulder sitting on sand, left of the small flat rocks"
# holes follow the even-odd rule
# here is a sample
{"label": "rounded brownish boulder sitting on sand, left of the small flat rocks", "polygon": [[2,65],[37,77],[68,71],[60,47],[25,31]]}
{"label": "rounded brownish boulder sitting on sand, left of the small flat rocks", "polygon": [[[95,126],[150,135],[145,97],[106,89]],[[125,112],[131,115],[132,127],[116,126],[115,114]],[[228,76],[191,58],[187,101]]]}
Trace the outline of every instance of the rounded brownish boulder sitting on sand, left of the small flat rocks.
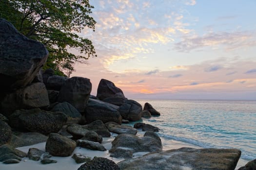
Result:
{"label": "rounded brownish boulder sitting on sand, left of the small flat rocks", "polygon": [[53,156],[70,156],[77,143],[65,136],[56,133],[51,133],[45,144],[45,151]]}

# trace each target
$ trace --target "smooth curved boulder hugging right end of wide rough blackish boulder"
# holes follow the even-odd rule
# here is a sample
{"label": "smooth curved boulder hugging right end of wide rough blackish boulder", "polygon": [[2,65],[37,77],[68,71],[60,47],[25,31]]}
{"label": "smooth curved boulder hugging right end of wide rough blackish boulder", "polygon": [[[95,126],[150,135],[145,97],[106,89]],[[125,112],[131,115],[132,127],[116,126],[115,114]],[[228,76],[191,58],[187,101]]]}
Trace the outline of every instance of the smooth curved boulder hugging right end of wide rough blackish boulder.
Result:
{"label": "smooth curved boulder hugging right end of wide rough blackish boulder", "polygon": [[79,111],[70,103],[68,102],[60,102],[56,104],[52,109],[52,112],[62,112],[64,113],[68,120],[67,123],[78,123],[78,121],[81,119],[82,115],[79,113]]}

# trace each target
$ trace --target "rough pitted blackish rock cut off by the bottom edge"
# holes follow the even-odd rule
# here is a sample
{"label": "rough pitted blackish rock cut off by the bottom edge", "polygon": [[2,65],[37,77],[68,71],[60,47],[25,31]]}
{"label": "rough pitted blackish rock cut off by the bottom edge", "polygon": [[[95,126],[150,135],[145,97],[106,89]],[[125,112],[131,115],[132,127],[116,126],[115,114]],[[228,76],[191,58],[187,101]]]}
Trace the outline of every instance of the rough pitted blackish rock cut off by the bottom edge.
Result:
{"label": "rough pitted blackish rock cut off by the bottom edge", "polygon": [[103,157],[94,157],[93,160],[81,165],[78,170],[120,170],[117,164]]}

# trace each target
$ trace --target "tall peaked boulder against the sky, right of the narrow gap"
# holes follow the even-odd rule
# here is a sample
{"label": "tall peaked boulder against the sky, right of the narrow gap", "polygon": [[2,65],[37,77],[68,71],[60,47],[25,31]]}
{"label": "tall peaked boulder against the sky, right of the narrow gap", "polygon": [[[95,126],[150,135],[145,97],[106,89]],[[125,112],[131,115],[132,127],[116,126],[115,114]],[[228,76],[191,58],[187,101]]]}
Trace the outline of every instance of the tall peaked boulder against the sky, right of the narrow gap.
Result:
{"label": "tall peaked boulder against the sky, right of the narrow gap", "polygon": [[118,88],[114,83],[101,79],[98,84],[97,98],[103,100],[109,97],[121,97],[125,98],[122,90]]}

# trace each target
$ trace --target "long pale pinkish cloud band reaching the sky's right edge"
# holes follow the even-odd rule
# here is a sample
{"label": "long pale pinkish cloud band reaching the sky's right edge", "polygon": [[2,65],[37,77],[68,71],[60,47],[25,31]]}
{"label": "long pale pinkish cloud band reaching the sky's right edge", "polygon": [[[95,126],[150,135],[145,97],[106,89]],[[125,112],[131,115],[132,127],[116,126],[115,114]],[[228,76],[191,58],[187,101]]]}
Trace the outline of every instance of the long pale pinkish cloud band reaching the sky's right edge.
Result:
{"label": "long pale pinkish cloud band reaching the sky's right edge", "polygon": [[242,47],[256,46],[256,32],[254,31],[236,31],[236,32],[210,32],[202,36],[189,35],[174,44],[174,50],[181,52],[190,52],[203,47],[218,49],[220,46],[224,50],[235,50]]}

